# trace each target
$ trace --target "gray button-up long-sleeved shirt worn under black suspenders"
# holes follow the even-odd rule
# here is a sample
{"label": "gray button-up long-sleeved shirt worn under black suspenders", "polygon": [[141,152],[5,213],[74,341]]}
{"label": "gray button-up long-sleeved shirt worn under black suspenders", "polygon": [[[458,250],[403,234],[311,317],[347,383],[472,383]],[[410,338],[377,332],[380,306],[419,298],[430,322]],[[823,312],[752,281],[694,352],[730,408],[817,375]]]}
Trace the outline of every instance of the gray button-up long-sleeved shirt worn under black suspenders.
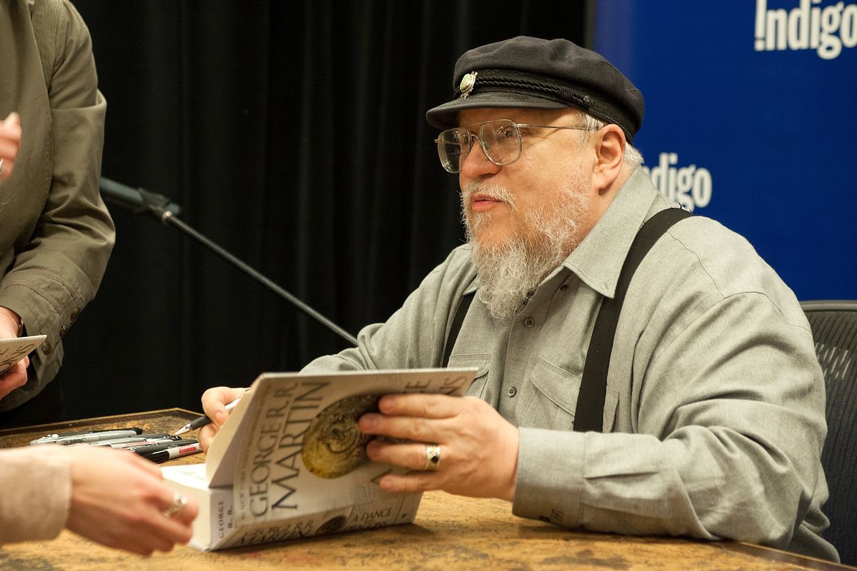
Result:
{"label": "gray button-up long-sleeved shirt worn under black suspenders", "polygon": [[[573,432],[596,314],[639,227],[670,206],[637,170],[512,321],[478,299],[450,366],[520,431],[515,514],[597,531],[736,538],[836,559],[820,537],[824,379],[794,294],[740,235],[704,217],[658,241],[626,294],[604,433]],[[465,292],[452,251],[385,324],[313,369],[440,366]]]}

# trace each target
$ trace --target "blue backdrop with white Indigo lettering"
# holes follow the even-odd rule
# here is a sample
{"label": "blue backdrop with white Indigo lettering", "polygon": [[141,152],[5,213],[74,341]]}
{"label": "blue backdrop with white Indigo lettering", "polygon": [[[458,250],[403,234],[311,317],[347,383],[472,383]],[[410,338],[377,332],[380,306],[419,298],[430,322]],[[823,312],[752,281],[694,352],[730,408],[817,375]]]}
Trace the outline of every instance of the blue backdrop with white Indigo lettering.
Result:
{"label": "blue backdrop with white Indigo lettering", "polygon": [[857,298],[857,2],[598,0],[662,193],[746,236],[800,300]]}

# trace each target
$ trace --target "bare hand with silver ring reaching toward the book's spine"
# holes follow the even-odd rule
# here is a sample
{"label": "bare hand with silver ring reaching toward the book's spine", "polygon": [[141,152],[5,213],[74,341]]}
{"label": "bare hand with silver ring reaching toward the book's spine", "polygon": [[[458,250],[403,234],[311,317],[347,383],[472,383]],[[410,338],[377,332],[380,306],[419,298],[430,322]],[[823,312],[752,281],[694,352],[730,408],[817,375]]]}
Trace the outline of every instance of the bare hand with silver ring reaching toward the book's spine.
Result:
{"label": "bare hand with silver ring reaching toward the book's spine", "polygon": [[198,507],[189,499],[177,514],[164,514],[175,492],[157,465],[128,450],[81,446],[68,452],[71,531],[141,555],[188,543]]}

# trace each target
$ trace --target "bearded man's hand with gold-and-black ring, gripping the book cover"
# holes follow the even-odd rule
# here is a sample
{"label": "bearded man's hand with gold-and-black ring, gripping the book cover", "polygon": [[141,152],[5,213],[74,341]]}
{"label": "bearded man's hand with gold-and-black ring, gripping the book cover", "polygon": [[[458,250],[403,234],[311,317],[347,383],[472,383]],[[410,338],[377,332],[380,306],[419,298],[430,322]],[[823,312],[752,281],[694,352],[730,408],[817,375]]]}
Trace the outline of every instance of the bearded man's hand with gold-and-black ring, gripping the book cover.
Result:
{"label": "bearded man's hand with gold-and-black ring, gripping the book cover", "polygon": [[[444,490],[471,497],[512,501],[518,474],[518,429],[487,402],[475,396],[388,395],[381,413],[364,414],[357,422],[364,434],[416,441],[373,440],[369,458],[416,472],[387,474],[384,491]],[[427,444],[440,445],[436,471],[427,464]]]}

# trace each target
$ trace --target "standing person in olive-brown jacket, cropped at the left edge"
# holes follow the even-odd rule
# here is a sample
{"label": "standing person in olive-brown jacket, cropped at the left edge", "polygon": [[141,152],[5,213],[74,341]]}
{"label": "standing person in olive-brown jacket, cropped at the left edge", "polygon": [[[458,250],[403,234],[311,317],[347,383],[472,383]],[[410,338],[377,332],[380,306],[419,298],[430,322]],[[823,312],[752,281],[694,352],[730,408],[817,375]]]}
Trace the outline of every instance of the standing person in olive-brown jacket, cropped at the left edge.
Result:
{"label": "standing person in olive-brown jacket, cropped at the left edge", "polygon": [[99,194],[106,102],[64,0],[0,0],[0,339],[47,336],[0,377],[0,428],[63,418],[62,338],[115,241]]}

